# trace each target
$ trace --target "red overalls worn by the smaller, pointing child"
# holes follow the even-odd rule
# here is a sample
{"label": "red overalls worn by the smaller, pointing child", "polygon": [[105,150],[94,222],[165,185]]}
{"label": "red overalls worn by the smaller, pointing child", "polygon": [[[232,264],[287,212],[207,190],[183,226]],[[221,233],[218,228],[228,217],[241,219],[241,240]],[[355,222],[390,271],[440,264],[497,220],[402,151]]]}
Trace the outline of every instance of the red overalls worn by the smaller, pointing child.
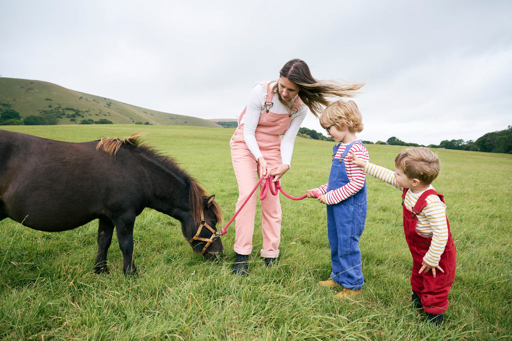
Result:
{"label": "red overalls worn by the smaller, pointing child", "polygon": [[[402,200],[406,197],[407,188],[403,189]],[[423,310],[429,314],[441,314],[448,308],[448,292],[452,288],[455,279],[455,267],[457,264],[457,255],[455,244],[452,239],[450,231],[450,223],[446,218],[448,224],[448,241],[444,248],[444,252],[439,260],[439,266],[444,270],[441,272],[436,269],[436,278],[432,276],[432,270],[429,272],[423,271],[418,274],[421,269],[423,257],[429,251],[432,238],[426,238],[416,232],[416,215],[423,210],[426,206],[426,197],[432,194],[437,194],[442,202],[443,196],[434,190],[426,190],[421,194],[416,201],[416,205],[411,212],[405,205],[403,205],[403,231],[406,234],[407,245],[413,257],[413,270],[411,275],[411,286],[414,292],[421,299]]]}

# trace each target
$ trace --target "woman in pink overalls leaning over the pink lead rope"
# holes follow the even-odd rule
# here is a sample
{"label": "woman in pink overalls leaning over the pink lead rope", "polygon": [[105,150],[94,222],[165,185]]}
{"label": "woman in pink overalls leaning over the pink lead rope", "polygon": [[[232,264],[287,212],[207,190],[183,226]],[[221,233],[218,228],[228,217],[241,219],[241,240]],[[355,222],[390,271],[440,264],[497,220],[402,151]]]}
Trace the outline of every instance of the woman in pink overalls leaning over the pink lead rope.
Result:
{"label": "woman in pink overalls leaning over the pink lead rope", "polygon": [[[258,82],[250,93],[249,103],[238,120],[230,141],[231,160],[238,181],[237,211],[261,175],[278,181],[290,170],[293,144],[308,109],[318,118],[330,102],[327,97],[352,97],[364,83],[340,84],[313,78],[303,60],[288,61],[279,72],[279,80]],[[283,135],[283,138],[281,138]],[[233,274],[248,273],[248,256],[252,252],[254,193],[235,221]],[[279,256],[281,239],[281,204],[279,195],[267,195],[261,201],[263,248],[261,257],[270,266]]]}

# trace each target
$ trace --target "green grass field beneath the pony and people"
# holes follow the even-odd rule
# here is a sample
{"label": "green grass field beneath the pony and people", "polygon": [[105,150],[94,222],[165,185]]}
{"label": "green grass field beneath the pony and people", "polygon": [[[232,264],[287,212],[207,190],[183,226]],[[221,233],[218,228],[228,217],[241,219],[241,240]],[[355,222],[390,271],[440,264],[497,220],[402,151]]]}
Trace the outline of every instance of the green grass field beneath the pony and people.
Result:
{"label": "green grass field beneath the pony and people", "polygon": [[[228,141],[233,129],[168,126],[8,126],[65,141],[125,137],[135,131],[175,157],[223,209],[238,197]],[[327,181],[332,142],[297,139],[281,184],[291,195]],[[394,169],[400,146],[368,145],[373,163]],[[111,274],[92,273],[97,222],[62,233],[0,222],[2,340],[508,340],[512,338],[512,155],[434,150],[457,247],[457,275],[445,323],[435,327],[410,303],[411,256],[403,236],[400,192],[368,178],[368,218],[360,241],[366,286],[354,300],[318,286],[329,277],[325,206],[281,196],[283,229],[277,266],[259,257],[257,220],[250,275],[231,275],[234,225],[225,256],[195,255],[179,222],[146,209],[136,221],[140,275],[122,274],[117,240]],[[1,162],[1,155],[0,155]],[[257,215],[258,216],[258,215]],[[56,217],[57,219],[58,217]],[[222,226],[218,226],[220,228]]]}

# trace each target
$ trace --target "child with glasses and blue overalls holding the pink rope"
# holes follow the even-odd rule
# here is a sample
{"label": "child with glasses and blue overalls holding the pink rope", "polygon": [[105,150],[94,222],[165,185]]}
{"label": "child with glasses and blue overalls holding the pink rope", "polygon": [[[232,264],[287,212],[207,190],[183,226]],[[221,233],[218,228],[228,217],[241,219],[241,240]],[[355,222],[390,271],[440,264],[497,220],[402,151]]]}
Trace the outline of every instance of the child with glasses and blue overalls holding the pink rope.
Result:
{"label": "child with glasses and blue overalls holding the pink rope", "polygon": [[339,144],[333,147],[329,182],[307,192],[327,204],[332,272],[319,284],[343,288],[336,298],[355,297],[365,285],[358,244],[365,229],[366,174],[346,156],[351,152],[368,161],[368,150],[355,135],[362,131],[362,117],[354,101],[338,100],[324,110],[320,124]]}

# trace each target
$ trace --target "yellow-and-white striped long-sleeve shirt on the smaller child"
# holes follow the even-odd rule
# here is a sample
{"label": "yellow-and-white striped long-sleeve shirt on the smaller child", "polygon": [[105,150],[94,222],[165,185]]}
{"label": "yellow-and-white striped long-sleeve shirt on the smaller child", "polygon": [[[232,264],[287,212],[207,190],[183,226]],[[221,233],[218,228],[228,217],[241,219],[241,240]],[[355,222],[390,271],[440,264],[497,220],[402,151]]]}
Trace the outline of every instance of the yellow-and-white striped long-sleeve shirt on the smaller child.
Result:
{"label": "yellow-and-white striped long-sleeve shirt on the smaller child", "polygon": [[[364,172],[402,190],[396,182],[395,176],[393,175],[394,172],[387,168],[367,162]],[[434,189],[434,187],[430,185],[428,189]],[[403,204],[411,210],[422,193],[423,192],[413,193],[411,190],[407,191]],[[423,257],[423,262],[431,267],[436,267],[439,265],[439,259],[448,241],[446,206],[435,194],[426,197],[426,202],[425,208],[416,216],[416,232],[423,237],[432,238],[429,251]]]}

